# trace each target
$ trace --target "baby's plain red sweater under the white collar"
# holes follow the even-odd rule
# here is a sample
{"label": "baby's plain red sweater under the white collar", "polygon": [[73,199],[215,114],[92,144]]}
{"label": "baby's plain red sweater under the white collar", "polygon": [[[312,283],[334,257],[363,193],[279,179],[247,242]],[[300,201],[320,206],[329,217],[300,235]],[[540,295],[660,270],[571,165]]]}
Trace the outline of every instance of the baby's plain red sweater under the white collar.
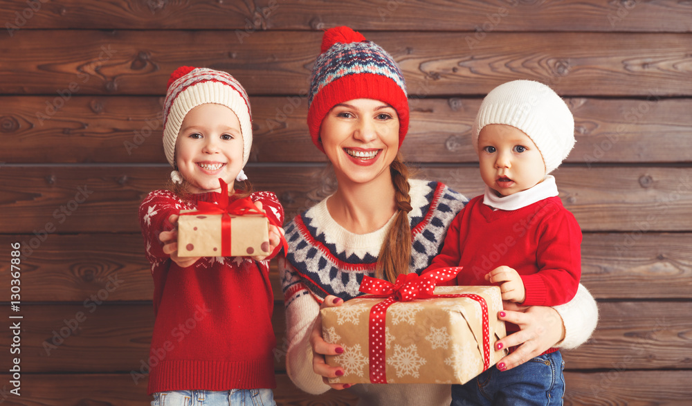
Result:
{"label": "baby's plain red sweater under the white collar", "polygon": [[457,285],[489,285],[486,273],[502,265],[521,276],[526,306],[572,300],[581,277],[581,229],[559,197],[510,211],[475,197],[452,221],[442,251],[424,272],[463,266]]}

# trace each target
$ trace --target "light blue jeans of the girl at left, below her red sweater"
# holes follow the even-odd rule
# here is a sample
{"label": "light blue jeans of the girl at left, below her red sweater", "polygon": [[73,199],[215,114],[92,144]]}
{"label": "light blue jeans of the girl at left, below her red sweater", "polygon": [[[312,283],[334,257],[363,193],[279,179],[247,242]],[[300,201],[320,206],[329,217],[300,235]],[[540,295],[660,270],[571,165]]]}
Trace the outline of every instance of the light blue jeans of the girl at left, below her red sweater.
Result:
{"label": "light blue jeans of the girl at left, below her red sweater", "polygon": [[276,406],[271,389],[156,392],[152,406]]}

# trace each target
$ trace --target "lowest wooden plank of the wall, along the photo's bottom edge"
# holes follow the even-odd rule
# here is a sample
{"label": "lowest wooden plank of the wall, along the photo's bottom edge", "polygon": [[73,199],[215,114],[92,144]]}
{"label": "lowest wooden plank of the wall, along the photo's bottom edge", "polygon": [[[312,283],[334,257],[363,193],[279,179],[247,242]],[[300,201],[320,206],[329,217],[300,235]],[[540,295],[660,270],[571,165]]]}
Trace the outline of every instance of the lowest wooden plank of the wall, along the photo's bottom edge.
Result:
{"label": "lowest wooden plank of the wall, along the photo's bottom edge", "polygon": [[[3,382],[10,380],[0,375]],[[621,370],[613,373],[566,372],[565,405],[685,405],[692,398],[688,382],[691,371],[659,371],[652,380],[649,371]],[[327,391],[316,396],[301,391],[284,373],[277,373],[274,398],[279,406],[354,405],[348,391]],[[10,388],[8,388],[9,391]],[[126,373],[32,374],[22,376],[21,397],[8,393],[12,406],[83,406],[86,404],[148,406],[152,399],[146,385],[134,385]]]}

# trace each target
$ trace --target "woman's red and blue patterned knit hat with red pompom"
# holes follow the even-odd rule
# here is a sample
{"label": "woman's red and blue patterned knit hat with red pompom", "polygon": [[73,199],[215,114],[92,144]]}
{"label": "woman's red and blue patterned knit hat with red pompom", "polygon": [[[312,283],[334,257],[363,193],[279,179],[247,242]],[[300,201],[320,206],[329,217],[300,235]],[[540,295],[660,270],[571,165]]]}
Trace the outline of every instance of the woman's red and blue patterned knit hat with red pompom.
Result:
{"label": "woman's red and blue patterned knit hat with red pompom", "polygon": [[380,100],[399,116],[399,147],[408,132],[408,98],[401,70],[379,45],[348,27],[335,27],[322,36],[308,94],[307,124],[312,142],[324,152],[320,126],[336,104],[354,99]]}

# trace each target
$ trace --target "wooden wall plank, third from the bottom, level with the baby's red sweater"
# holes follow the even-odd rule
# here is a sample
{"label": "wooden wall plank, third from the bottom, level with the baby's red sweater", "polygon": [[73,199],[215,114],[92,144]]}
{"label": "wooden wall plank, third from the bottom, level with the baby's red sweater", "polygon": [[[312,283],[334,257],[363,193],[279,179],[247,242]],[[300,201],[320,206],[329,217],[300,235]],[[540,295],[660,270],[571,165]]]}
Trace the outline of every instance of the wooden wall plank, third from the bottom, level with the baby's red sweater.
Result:
{"label": "wooden wall plank, third from the bottom, level with the baby's red sweater", "polygon": [[[3,236],[1,246],[30,237]],[[687,233],[588,233],[581,247],[582,282],[597,299],[691,299],[691,246]],[[8,256],[9,250],[0,252],[0,286],[12,279]],[[24,303],[82,303],[108,288],[108,302],[149,301],[154,292],[140,234],[51,235],[21,259],[20,269]],[[276,261],[270,280],[274,299],[283,300]]]}

